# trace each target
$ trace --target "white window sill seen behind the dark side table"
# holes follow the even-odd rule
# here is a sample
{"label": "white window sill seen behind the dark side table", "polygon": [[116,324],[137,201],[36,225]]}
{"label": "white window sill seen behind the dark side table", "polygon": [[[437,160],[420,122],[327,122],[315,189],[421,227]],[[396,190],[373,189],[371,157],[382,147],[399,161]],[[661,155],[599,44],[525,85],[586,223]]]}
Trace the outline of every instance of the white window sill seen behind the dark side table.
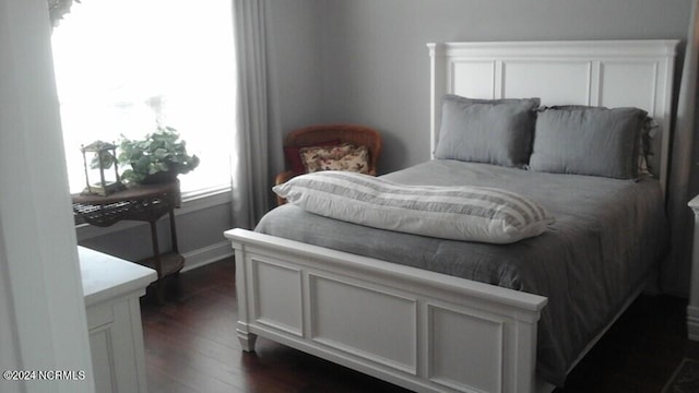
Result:
{"label": "white window sill seen behind the dark side table", "polygon": [[[175,210],[175,216],[191,214],[205,209],[230,203],[230,186],[212,187],[197,191],[182,192],[182,205]],[[146,225],[143,222],[122,221],[108,227],[95,227],[90,224],[76,224],[78,241]]]}

